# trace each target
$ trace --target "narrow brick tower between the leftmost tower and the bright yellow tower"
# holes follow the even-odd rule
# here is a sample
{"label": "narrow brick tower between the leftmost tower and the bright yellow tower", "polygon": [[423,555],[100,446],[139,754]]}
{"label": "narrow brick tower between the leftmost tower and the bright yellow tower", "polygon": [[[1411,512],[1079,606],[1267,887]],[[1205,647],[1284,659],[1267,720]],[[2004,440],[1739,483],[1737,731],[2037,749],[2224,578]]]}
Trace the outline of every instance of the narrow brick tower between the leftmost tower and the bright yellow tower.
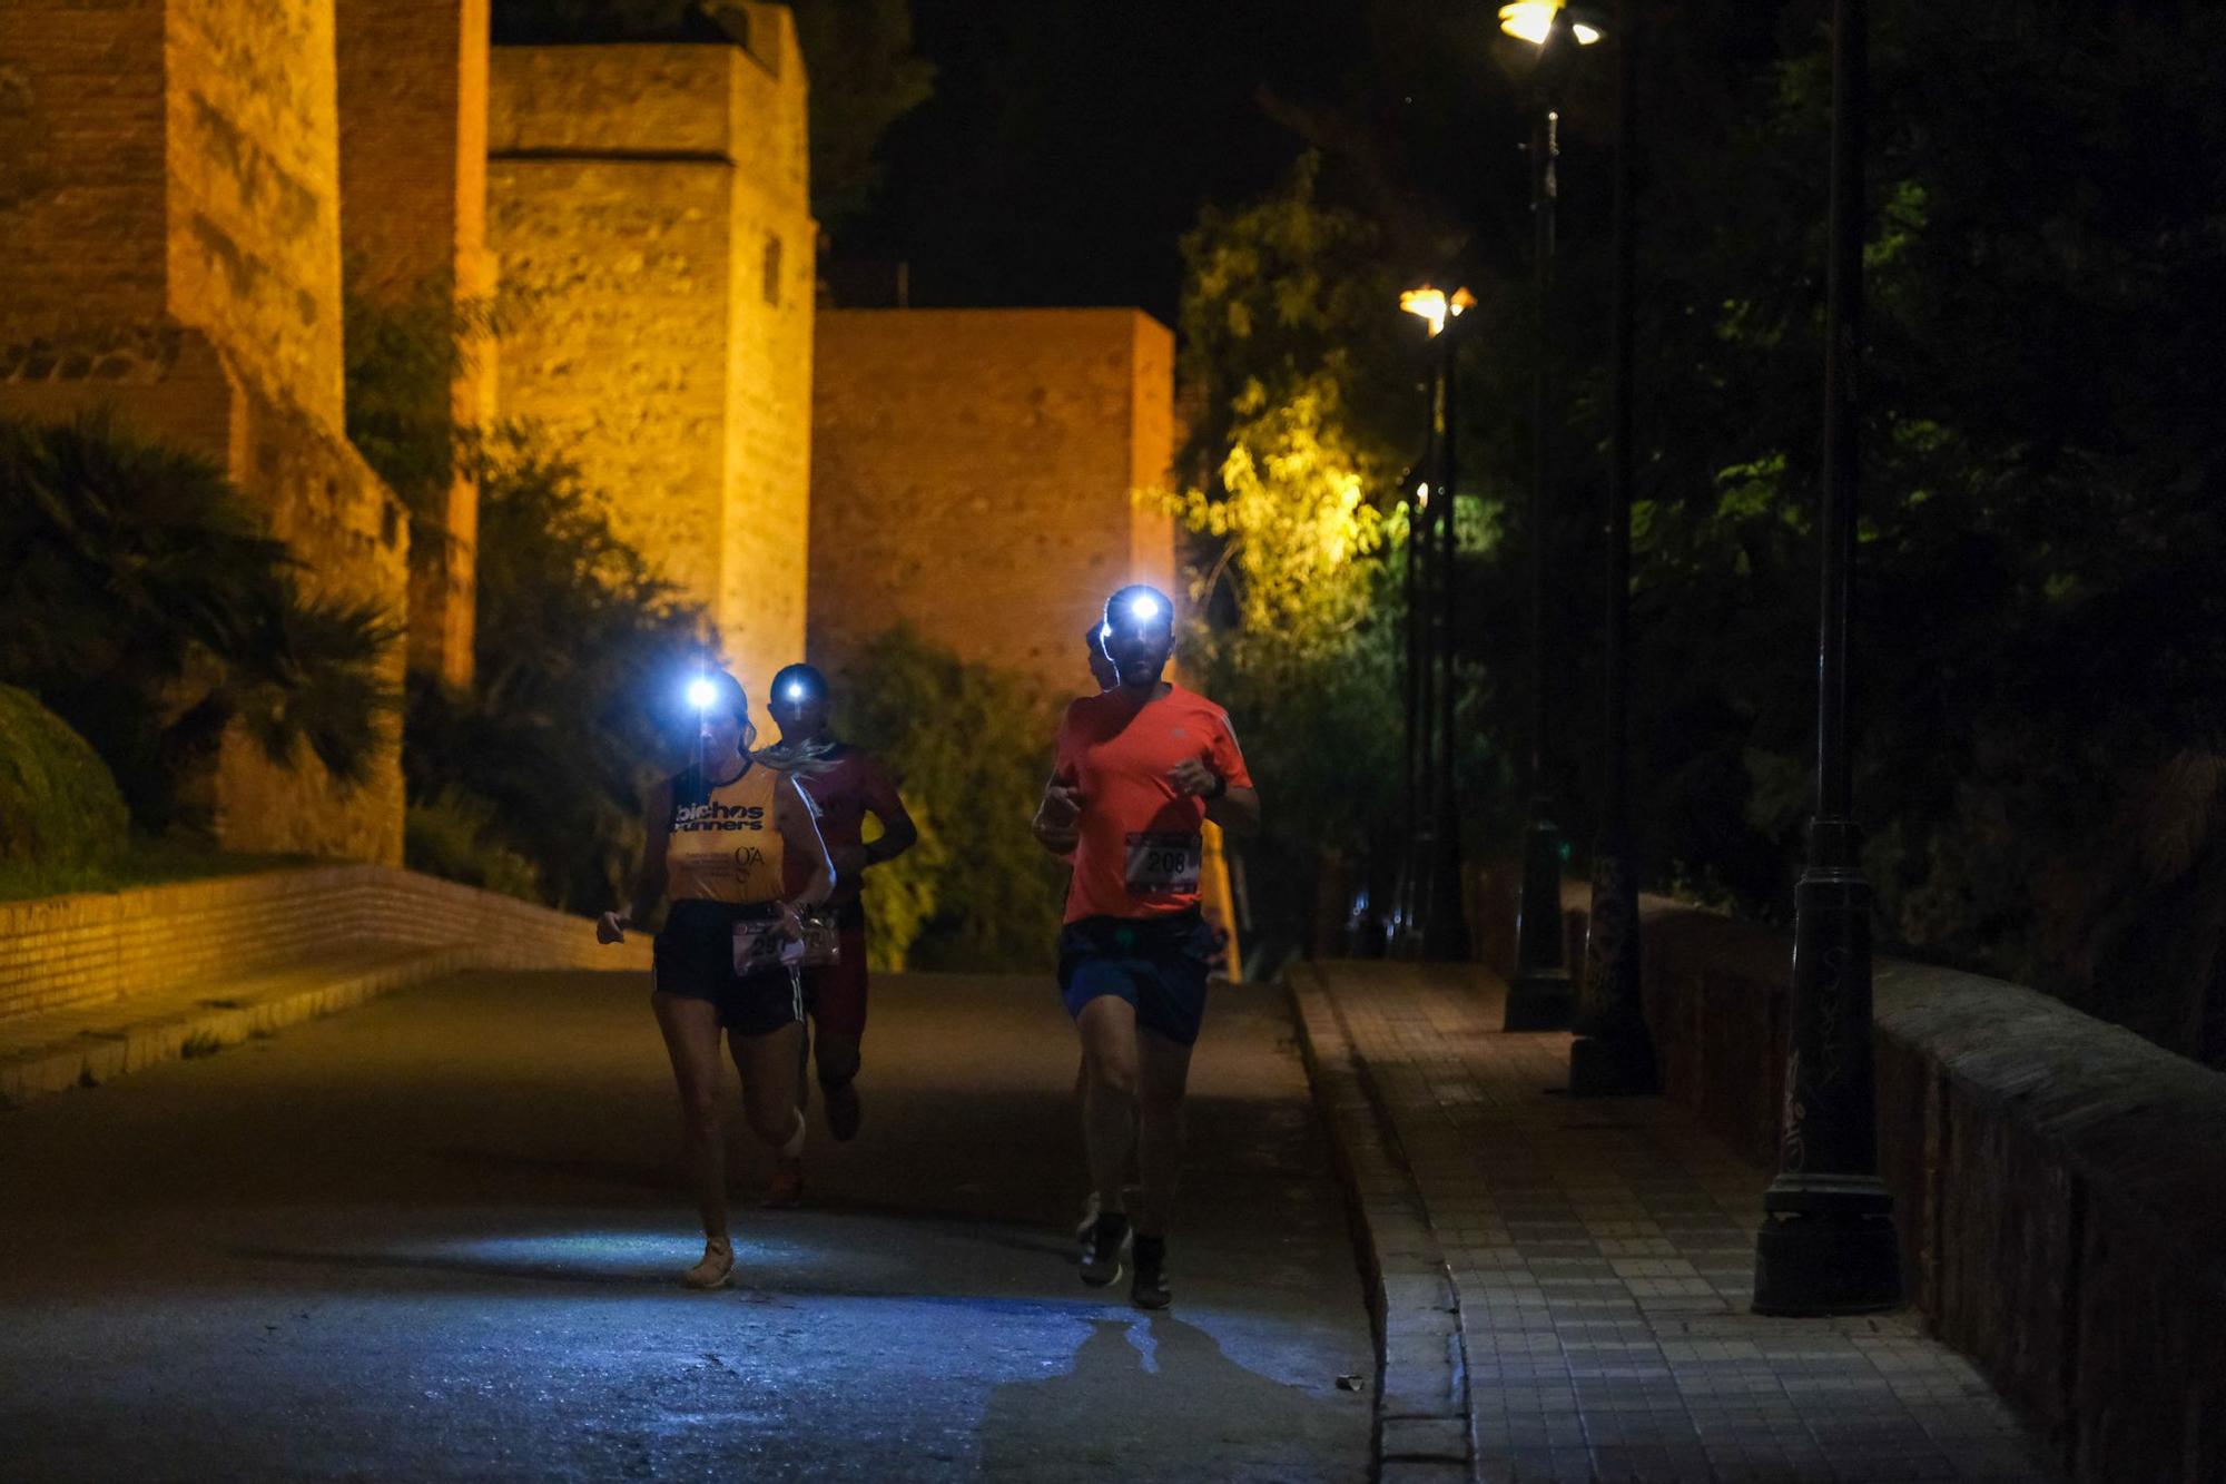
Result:
{"label": "narrow brick tower between the leftmost tower and the bright yellow tower", "polygon": [[[341,247],[349,292],[410,301],[494,292],[487,254],[487,0],[338,0]],[[461,426],[490,421],[494,345],[450,388]],[[456,477],[410,559],[410,664],[472,680],[479,490]]]}

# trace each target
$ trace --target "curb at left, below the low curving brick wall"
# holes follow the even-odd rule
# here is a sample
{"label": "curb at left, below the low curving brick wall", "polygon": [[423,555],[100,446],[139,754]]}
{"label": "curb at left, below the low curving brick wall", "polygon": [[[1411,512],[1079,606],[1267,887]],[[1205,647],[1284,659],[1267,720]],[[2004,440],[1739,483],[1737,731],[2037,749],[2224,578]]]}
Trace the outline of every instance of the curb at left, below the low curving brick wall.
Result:
{"label": "curb at left, below the low curving brick wall", "polygon": [[280,989],[247,1003],[207,1000],[187,1014],[140,1021],[114,1032],[82,1032],[73,1041],[0,1063],[0,1107],[20,1107],[69,1087],[98,1087],[162,1061],[205,1056],[240,1045],[249,1036],[354,1009],[392,989],[474,969],[481,963],[483,954],[470,947],[414,949],[303,989]]}

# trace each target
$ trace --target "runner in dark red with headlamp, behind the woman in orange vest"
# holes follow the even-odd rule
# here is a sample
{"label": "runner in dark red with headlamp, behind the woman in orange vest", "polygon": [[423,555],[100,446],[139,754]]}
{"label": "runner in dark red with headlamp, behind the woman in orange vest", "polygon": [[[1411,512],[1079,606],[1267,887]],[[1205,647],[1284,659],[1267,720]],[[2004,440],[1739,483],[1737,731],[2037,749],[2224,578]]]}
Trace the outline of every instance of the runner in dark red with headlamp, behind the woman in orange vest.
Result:
{"label": "runner in dark red with headlamp, behind the woman in orange vest", "polygon": [[[828,1132],[848,1141],[857,1134],[861,1112],[855,1078],[859,1043],[866,1038],[864,876],[868,867],[908,851],[919,840],[919,829],[881,764],[864,749],[835,740],[828,729],[826,675],[808,664],[790,664],[772,677],[766,709],[781,726],[781,742],[766,749],[766,762],[797,775],[819,811],[819,836],[835,862],[828,907],[835,911],[837,954],[830,965],[804,969],[804,1000],[812,1018]],[[864,838],[868,813],[881,824],[870,844]]]}

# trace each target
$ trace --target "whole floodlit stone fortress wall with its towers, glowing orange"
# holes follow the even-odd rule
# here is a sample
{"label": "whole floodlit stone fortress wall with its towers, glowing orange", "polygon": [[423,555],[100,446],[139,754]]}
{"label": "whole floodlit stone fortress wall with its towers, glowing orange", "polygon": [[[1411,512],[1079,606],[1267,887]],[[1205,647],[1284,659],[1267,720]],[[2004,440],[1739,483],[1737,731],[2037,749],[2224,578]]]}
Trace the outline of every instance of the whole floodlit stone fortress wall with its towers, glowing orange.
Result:
{"label": "whole floodlit stone fortress wall with its towers, glowing orange", "polygon": [[[1166,475],[1169,332],[815,323],[788,11],[708,7],[690,36],[490,51],[487,0],[7,0],[0,414],[107,406],[200,450],[316,588],[407,617],[407,664],[467,682],[476,492],[412,553],[345,439],[343,274],[390,301],[501,287],[501,354],[454,417],[543,423],[755,697],[897,622],[1073,693],[1104,590],[1173,579],[1166,519],[1129,497]],[[354,791],[227,744],[220,840],[398,860],[394,742]]]}

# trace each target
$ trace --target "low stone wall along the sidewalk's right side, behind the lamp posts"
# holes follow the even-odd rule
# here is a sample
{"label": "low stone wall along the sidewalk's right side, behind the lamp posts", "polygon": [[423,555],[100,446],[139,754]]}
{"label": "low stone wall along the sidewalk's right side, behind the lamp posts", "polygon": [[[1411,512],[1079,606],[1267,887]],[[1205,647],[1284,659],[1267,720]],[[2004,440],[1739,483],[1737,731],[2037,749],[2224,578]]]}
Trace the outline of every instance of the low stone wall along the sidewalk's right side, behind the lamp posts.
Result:
{"label": "low stone wall along the sidewalk's right side, behind the lamp posts", "polygon": [[[1643,931],[1663,1092],[1774,1168],[1790,934],[1661,898]],[[2070,1477],[2226,1477],[2226,1076],[1977,974],[1881,960],[1874,1000],[1879,1165],[1930,1328]]]}

